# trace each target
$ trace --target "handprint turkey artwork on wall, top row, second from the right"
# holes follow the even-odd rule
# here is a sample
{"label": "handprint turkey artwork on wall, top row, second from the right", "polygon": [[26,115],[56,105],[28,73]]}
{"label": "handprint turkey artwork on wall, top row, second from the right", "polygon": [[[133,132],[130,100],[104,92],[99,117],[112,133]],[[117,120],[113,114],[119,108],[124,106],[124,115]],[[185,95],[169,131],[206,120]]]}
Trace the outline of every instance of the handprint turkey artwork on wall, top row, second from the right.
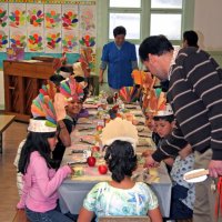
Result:
{"label": "handprint turkey artwork on wall, top row, second from the right", "polygon": [[62,28],[65,30],[73,30],[74,28],[78,28],[78,6],[62,6]]}

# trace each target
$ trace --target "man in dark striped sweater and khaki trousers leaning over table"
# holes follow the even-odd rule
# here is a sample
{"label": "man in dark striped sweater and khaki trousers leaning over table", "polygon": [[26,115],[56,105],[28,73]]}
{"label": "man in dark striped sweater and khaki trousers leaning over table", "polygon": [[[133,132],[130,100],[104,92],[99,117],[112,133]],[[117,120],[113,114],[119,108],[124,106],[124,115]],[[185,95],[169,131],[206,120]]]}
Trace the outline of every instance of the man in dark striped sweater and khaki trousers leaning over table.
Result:
{"label": "man in dark striped sweater and khaki trousers leaning over table", "polygon": [[[190,143],[195,168],[209,169],[212,178],[222,175],[222,70],[218,63],[194,47],[181,49],[173,59],[173,47],[164,36],[147,38],[139,53],[152,74],[170,80],[168,99],[176,119],[176,128],[147,164],[174,157]],[[196,184],[194,222],[214,221],[212,178]]]}

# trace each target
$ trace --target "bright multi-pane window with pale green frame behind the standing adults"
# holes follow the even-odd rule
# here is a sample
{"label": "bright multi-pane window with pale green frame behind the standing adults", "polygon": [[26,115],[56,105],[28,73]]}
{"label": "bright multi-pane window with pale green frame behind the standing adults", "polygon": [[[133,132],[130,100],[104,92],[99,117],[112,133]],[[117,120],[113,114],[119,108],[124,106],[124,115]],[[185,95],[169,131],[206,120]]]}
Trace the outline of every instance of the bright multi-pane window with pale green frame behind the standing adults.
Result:
{"label": "bright multi-pane window with pale green frame behind the standing adults", "polygon": [[153,34],[164,34],[174,46],[180,46],[183,1],[109,0],[109,41],[113,41],[113,29],[123,26],[127,29],[125,39],[135,44],[137,54],[142,40]]}

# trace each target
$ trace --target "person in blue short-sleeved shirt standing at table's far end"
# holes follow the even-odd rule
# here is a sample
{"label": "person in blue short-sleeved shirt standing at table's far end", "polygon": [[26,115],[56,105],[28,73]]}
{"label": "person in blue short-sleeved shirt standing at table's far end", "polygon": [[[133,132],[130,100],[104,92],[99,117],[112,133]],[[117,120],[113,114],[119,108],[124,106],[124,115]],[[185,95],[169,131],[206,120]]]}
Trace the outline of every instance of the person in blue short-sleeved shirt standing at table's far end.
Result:
{"label": "person in blue short-sleeved shirt standing at table's far end", "polygon": [[103,83],[103,73],[108,67],[108,84],[115,92],[122,87],[133,85],[131,73],[138,69],[138,60],[135,46],[125,41],[125,28],[114,28],[113,36],[114,41],[103,47],[99,81]]}

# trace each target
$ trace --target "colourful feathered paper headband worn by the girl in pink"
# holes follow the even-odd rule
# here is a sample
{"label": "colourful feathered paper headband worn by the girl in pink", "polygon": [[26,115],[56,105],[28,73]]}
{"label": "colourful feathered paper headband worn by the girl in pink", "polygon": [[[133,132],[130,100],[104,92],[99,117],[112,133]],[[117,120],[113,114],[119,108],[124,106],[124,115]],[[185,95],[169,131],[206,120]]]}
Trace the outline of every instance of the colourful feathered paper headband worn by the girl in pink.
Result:
{"label": "colourful feathered paper headband worn by the girl in pink", "polygon": [[30,132],[56,132],[57,115],[53,107],[56,88],[53,83],[42,85],[39,94],[32,101],[31,113],[33,118],[44,118],[46,120],[30,119],[28,131]]}

